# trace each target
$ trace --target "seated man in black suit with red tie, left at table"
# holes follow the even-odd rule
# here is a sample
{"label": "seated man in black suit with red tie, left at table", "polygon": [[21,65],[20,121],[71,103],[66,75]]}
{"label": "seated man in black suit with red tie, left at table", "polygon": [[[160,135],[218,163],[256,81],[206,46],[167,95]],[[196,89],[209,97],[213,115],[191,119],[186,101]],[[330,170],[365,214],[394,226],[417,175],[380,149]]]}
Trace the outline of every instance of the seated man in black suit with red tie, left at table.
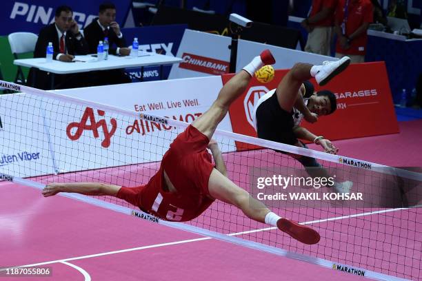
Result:
{"label": "seated man in black suit with red tie, left at table", "polygon": [[[54,23],[47,25],[39,32],[35,45],[34,58],[45,58],[48,43],[53,45],[53,59],[72,62],[75,54],[88,54],[88,43],[83,38],[79,27],[73,19],[72,9],[60,6],[56,9]],[[54,88],[81,87],[81,74],[55,75]],[[51,77],[47,72],[31,68],[28,85],[40,89],[50,89]],[[86,83],[85,83],[86,84]]]}

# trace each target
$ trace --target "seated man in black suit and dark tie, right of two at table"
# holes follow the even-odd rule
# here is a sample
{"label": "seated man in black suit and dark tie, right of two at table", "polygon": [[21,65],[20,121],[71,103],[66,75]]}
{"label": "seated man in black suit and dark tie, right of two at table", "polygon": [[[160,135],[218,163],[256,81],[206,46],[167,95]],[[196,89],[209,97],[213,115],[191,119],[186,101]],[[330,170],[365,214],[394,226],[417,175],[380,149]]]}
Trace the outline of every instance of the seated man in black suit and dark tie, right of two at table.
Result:
{"label": "seated man in black suit and dark tie, right of two at table", "polygon": [[[99,41],[108,38],[109,54],[128,56],[130,49],[125,48],[126,42],[116,21],[116,6],[113,3],[102,3],[99,6],[99,17],[83,29],[90,53],[97,53]],[[100,85],[130,83],[130,78],[123,70],[106,70],[97,72]]]}

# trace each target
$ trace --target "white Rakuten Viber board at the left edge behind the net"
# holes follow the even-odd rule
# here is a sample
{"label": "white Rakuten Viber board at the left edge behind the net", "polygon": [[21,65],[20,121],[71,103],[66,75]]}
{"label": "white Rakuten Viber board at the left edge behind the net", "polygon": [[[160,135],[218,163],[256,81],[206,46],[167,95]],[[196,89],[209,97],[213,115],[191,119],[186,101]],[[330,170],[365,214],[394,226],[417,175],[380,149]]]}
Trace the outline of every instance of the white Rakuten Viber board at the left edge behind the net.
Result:
{"label": "white Rakuten Viber board at the left edge behind the net", "polygon": [[39,99],[25,94],[0,96],[0,172],[13,176],[52,174],[46,136],[48,118]]}

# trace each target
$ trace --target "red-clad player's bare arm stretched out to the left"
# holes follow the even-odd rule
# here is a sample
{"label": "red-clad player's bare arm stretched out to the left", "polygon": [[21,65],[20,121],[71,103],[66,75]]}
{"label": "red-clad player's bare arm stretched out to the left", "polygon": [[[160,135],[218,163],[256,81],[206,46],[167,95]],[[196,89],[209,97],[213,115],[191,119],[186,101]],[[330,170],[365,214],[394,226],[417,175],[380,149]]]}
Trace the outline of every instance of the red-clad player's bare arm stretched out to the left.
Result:
{"label": "red-clad player's bare arm stretched out to the left", "polygon": [[117,196],[120,188],[119,185],[106,185],[104,183],[50,183],[43,189],[43,196],[53,196],[59,192]]}

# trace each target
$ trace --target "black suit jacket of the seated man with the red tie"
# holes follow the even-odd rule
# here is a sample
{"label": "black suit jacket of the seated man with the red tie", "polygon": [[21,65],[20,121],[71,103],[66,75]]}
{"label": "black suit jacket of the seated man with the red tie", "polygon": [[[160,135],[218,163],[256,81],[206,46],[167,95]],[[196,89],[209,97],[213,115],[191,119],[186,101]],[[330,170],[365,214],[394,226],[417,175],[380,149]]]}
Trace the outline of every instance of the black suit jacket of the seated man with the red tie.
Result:
{"label": "black suit jacket of the seated man with the red tie", "polygon": [[[59,54],[60,45],[59,34],[57,34],[55,23],[47,25],[39,32],[37,44],[35,45],[34,50],[34,58],[46,57],[48,42],[53,43],[53,59],[56,59],[57,54]],[[89,52],[88,43],[86,43],[86,40],[83,37],[80,40],[76,39],[76,37],[74,37],[70,31],[66,32],[65,44],[68,54],[88,54]]]}

